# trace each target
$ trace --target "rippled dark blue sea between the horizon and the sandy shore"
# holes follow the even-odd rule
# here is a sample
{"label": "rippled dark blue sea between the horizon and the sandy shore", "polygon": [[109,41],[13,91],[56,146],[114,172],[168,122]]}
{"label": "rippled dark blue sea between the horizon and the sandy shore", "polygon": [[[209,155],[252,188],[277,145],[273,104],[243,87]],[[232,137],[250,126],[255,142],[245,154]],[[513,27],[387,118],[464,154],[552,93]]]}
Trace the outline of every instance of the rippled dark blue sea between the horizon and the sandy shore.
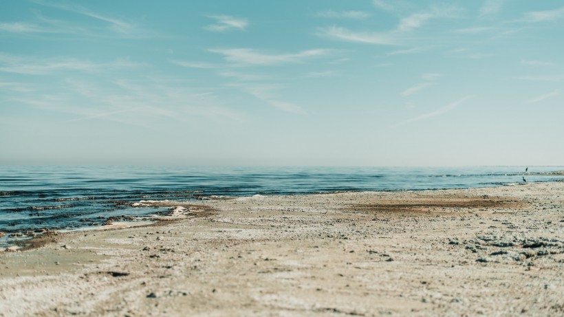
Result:
{"label": "rippled dark blue sea between the horizon and the sandy shore", "polygon": [[[564,166],[140,167],[0,166],[0,247],[30,232],[100,226],[111,216],[166,212],[140,200],[197,201],[211,196],[303,195],[358,190],[470,188],[564,181]],[[27,234],[26,234],[27,232]]]}

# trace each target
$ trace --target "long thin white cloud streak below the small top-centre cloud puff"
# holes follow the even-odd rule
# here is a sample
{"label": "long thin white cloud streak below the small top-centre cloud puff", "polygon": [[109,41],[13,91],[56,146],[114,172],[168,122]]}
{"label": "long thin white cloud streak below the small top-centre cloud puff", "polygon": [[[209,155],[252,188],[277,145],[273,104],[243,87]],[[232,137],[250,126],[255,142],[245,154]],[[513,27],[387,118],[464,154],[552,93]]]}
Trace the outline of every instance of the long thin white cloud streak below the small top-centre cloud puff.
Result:
{"label": "long thin white cloud streak below the small top-centre cloud puff", "polygon": [[225,50],[209,50],[209,52],[222,54],[226,61],[242,65],[280,65],[288,63],[303,63],[309,58],[318,58],[329,55],[332,50],[305,50],[294,54],[268,54],[248,48],[232,48]]}

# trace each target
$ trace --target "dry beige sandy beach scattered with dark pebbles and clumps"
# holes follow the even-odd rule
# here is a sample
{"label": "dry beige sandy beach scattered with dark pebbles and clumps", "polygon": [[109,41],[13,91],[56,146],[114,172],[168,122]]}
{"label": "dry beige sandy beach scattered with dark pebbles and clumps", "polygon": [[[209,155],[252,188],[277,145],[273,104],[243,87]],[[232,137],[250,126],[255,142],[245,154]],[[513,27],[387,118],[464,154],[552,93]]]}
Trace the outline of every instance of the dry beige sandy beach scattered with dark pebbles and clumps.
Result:
{"label": "dry beige sandy beach scattered with dark pebbles and clumps", "polygon": [[0,316],[563,316],[563,202],[563,182],[153,202],[169,221],[1,252]]}

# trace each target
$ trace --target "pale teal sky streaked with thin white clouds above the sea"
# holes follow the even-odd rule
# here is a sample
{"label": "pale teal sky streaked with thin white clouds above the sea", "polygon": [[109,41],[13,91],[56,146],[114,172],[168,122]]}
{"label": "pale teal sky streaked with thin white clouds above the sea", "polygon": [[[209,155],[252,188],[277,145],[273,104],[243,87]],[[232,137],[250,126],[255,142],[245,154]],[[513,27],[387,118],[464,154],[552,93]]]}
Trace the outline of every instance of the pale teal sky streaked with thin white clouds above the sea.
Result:
{"label": "pale teal sky streaked with thin white clouds above the sea", "polygon": [[0,164],[564,165],[562,1],[3,1]]}

